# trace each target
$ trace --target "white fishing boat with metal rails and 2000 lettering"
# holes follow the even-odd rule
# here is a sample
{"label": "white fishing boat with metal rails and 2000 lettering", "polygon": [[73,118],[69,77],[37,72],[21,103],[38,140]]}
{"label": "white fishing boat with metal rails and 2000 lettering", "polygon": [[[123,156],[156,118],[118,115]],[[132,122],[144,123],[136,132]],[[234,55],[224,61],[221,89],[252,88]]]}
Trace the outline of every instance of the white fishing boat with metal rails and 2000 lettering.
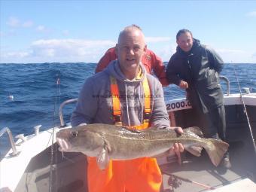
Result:
{"label": "white fishing boat with metal rails and 2000 lettering", "polygon": [[[181,159],[175,155],[157,159],[163,172],[162,191],[256,191],[253,141],[256,136],[256,93],[250,93],[245,88],[244,93],[230,94],[229,83],[227,85],[224,105],[232,168],[226,171],[216,168],[204,154],[191,157],[184,153]],[[17,142],[14,142],[9,128],[0,131],[0,137],[9,136],[11,143],[10,150],[1,158],[1,192],[87,191],[86,157],[81,153],[64,153],[62,156],[55,140],[56,132],[62,128],[71,128],[69,123],[64,123],[62,108],[75,101],[77,99],[71,99],[60,105],[60,126],[44,131],[40,131],[37,126],[34,134],[17,136]],[[197,125],[190,103],[185,98],[170,100],[166,108],[172,125]]]}

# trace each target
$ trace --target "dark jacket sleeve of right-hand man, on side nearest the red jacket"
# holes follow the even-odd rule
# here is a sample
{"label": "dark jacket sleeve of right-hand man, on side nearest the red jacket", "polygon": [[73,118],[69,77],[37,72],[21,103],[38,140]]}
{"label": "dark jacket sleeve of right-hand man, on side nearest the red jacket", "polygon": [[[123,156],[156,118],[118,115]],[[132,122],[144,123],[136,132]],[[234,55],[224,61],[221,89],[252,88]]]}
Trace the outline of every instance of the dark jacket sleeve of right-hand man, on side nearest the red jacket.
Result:
{"label": "dark jacket sleeve of right-hand man, on side nearest the red jacket", "polygon": [[181,82],[181,79],[178,76],[178,71],[175,67],[175,56],[172,56],[171,59],[169,59],[167,68],[166,68],[166,77],[169,81],[169,84],[176,84],[179,85]]}

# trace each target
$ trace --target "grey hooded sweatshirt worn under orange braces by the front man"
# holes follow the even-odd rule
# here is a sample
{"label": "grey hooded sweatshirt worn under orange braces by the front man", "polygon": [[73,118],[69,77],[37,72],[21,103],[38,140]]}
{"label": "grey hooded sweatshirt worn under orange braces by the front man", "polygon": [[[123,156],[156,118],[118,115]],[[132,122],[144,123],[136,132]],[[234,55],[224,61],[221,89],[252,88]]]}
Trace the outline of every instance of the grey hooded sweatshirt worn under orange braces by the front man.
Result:
{"label": "grey hooded sweatshirt worn under orange braces by the front man", "polygon": [[120,94],[121,118],[125,126],[136,126],[143,123],[144,115],[144,90],[142,81],[148,78],[151,90],[151,126],[166,128],[169,126],[169,117],[163,99],[163,88],[157,78],[149,75],[144,66],[142,78],[129,80],[120,71],[117,60],[84,83],[79,94],[78,103],[73,111],[72,126],[90,123],[114,124],[112,99],[110,90],[110,75],[117,80]]}

